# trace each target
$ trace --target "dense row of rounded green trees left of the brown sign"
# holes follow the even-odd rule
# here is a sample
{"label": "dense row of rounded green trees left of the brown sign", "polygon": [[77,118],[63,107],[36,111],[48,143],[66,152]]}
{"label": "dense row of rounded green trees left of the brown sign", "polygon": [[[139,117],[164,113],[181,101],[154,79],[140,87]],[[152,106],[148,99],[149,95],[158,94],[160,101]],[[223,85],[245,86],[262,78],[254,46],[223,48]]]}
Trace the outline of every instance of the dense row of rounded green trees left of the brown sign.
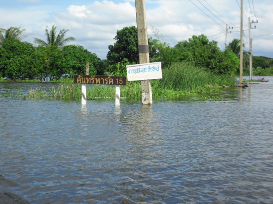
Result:
{"label": "dense row of rounded green trees left of the brown sign", "polygon": [[55,45],[34,47],[31,43],[9,38],[0,44],[0,77],[8,79],[55,80],[64,75],[103,72],[103,62],[82,46]]}

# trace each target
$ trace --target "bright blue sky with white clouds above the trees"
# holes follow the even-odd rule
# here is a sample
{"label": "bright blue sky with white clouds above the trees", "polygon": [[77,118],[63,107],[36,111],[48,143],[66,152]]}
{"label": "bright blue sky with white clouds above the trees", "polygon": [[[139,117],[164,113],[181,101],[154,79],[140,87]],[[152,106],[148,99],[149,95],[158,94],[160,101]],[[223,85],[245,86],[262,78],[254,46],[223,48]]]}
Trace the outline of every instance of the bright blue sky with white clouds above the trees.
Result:
{"label": "bright blue sky with white clouds above the trees", "polygon": [[[204,34],[221,50],[240,38],[240,0],[145,0],[148,35],[174,46],[193,35]],[[249,23],[254,56],[273,58],[272,0],[243,0],[243,43],[249,51]],[[256,23],[257,21],[257,23]],[[228,34],[226,34],[226,24]],[[45,29],[69,29],[70,44],[84,46],[106,59],[117,30],[136,26],[135,0],[0,0],[0,28],[26,29],[34,38],[46,40]],[[230,27],[230,28],[229,28]],[[231,33],[230,33],[231,32]]]}

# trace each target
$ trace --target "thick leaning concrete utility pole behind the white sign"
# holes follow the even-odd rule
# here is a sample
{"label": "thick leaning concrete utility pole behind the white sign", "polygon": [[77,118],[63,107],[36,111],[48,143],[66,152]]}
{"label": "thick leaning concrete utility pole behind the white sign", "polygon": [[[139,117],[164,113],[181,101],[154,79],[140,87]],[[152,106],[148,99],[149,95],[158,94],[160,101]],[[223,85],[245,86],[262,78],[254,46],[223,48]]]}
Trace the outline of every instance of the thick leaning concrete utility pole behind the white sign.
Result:
{"label": "thick leaning concrete utility pole behind the white sign", "polygon": [[[148,32],[146,25],[145,0],[135,0],[136,3],[136,19],[137,19],[137,35],[139,49],[139,63],[149,63],[149,45]],[[152,104],[152,85],[151,80],[141,81],[142,104]]]}

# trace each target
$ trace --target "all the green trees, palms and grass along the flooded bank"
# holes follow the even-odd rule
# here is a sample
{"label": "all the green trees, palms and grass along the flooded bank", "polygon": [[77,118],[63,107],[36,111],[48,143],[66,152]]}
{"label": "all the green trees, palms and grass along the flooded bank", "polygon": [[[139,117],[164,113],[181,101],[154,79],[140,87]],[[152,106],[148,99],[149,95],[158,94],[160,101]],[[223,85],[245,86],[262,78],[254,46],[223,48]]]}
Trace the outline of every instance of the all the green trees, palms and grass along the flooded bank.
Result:
{"label": "all the green trees, palms and grass along the flooded bank", "polygon": [[[5,96],[28,98],[50,98],[58,100],[79,100],[81,85],[73,83],[73,75],[85,74],[89,61],[90,75],[126,76],[126,65],[139,63],[137,28],[124,27],[117,31],[114,45],[109,45],[107,59],[101,60],[95,53],[80,45],[66,45],[75,40],[65,38],[68,30],[57,34],[57,26],[46,28],[46,40],[35,38],[34,46],[22,42],[20,27],[0,29],[0,81],[5,79],[27,82],[54,80],[60,85],[51,90],[36,88],[25,94],[22,91],[6,91]],[[216,41],[209,41],[203,34],[193,35],[188,40],[178,42],[171,47],[156,31],[157,39],[148,38],[150,62],[160,61],[162,79],[152,80],[153,97],[179,97],[185,94],[217,92],[215,86],[235,85],[235,74],[239,70],[239,40],[233,39],[224,50],[220,50]],[[244,72],[249,73],[247,52],[244,52]],[[259,64],[261,66],[259,66]],[[272,75],[273,59],[253,57],[254,75]],[[121,97],[141,98],[139,81],[128,82],[121,87]],[[114,98],[112,86],[92,85],[87,90],[88,99]],[[210,98],[211,99],[211,98]]]}

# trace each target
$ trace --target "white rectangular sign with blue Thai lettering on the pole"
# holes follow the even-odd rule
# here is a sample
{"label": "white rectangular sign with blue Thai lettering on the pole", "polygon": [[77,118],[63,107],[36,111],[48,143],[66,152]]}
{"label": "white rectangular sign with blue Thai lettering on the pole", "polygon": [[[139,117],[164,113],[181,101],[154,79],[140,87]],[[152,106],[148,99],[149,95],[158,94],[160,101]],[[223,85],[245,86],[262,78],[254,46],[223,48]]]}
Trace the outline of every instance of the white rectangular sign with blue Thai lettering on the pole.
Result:
{"label": "white rectangular sign with blue Thai lettering on the pole", "polygon": [[161,62],[127,65],[127,80],[162,79]]}

